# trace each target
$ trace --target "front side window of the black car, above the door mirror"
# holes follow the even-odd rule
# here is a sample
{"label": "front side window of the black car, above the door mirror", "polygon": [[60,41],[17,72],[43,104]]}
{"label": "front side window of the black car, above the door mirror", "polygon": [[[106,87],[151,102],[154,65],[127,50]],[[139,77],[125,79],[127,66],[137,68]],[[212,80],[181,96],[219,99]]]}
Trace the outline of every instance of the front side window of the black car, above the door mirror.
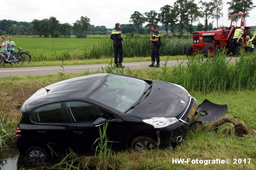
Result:
{"label": "front side window of the black car, above the door mirror", "polygon": [[93,123],[97,118],[113,119],[113,115],[86,102],[66,102],[74,123]]}

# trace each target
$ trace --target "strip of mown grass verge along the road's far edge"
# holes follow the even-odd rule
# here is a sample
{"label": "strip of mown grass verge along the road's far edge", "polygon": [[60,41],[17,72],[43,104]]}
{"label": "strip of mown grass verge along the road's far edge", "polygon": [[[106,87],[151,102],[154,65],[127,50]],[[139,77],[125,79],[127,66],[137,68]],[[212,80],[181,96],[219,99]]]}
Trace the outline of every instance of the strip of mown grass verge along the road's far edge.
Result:
{"label": "strip of mown grass verge along the road's far edge", "polygon": [[[182,56],[160,56],[161,61],[169,60],[183,60],[187,59],[185,55]],[[114,59],[112,58],[112,63]],[[131,57],[124,58],[123,62],[151,62],[151,57]],[[109,64],[111,63],[111,58],[102,57],[100,59],[83,59],[83,60],[68,60],[64,61],[64,65],[87,65],[87,64]],[[40,66],[58,66],[61,64],[61,59],[59,61],[41,61],[41,62],[24,62],[23,65],[19,64],[6,64],[5,67],[0,65],[0,68],[18,68],[18,67],[40,67]]]}

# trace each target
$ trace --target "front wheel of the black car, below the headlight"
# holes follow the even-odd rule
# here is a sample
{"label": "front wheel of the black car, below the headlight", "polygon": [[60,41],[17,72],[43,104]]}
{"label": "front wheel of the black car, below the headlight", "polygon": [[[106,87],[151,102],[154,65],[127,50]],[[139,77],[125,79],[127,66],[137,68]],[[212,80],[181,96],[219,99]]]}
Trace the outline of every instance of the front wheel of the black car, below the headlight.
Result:
{"label": "front wheel of the black car, below the headlight", "polygon": [[148,136],[137,136],[131,141],[133,150],[151,150],[157,148],[157,142]]}

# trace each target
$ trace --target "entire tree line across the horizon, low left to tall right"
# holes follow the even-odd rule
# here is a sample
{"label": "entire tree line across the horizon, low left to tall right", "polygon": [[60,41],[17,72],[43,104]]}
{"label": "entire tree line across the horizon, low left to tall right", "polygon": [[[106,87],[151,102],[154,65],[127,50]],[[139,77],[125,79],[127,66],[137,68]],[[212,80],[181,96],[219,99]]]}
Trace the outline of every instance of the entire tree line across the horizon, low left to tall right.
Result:
{"label": "entire tree line across the horizon, low left to tall right", "polygon": [[[194,26],[193,23],[198,22],[204,17],[204,11],[207,11],[209,18],[217,21],[218,28],[219,20],[223,17],[224,1],[223,0],[201,0],[199,4],[194,0],[176,0],[175,3],[165,5],[160,8],[160,13],[154,10],[140,13],[134,11],[130,17],[129,24],[122,24],[123,33],[146,34],[151,32],[151,25],[158,25],[158,29],[169,31],[175,35],[179,32],[180,35],[184,31],[192,33],[193,31],[203,31],[203,24],[198,23]],[[232,0],[227,2],[229,5],[228,14],[246,13],[245,17],[249,17],[249,12],[256,6],[253,0]],[[238,17],[235,18],[237,22]],[[144,25],[144,26],[143,26]],[[209,22],[208,30],[213,30],[213,22]],[[94,26],[90,24],[90,18],[81,16],[72,25],[69,23],[60,23],[55,17],[49,17],[43,20],[34,19],[32,22],[17,22],[13,20],[0,20],[0,34],[38,34],[44,37],[70,37],[71,34],[78,38],[86,37],[87,34],[107,34],[112,31],[105,26]]]}

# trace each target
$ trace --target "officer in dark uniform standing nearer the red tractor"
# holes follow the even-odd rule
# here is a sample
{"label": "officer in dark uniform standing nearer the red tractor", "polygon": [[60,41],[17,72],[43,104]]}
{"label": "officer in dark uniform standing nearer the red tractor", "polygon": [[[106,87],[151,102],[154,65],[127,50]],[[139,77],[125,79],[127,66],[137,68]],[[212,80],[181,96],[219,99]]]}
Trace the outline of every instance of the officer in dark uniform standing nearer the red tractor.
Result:
{"label": "officer in dark uniform standing nearer the red tractor", "polygon": [[159,49],[161,46],[161,34],[157,31],[157,26],[152,26],[153,36],[150,37],[150,41],[152,42],[152,52],[151,52],[151,65],[149,67],[154,67],[154,62],[157,60],[157,65],[155,67],[160,67],[160,54]]}

